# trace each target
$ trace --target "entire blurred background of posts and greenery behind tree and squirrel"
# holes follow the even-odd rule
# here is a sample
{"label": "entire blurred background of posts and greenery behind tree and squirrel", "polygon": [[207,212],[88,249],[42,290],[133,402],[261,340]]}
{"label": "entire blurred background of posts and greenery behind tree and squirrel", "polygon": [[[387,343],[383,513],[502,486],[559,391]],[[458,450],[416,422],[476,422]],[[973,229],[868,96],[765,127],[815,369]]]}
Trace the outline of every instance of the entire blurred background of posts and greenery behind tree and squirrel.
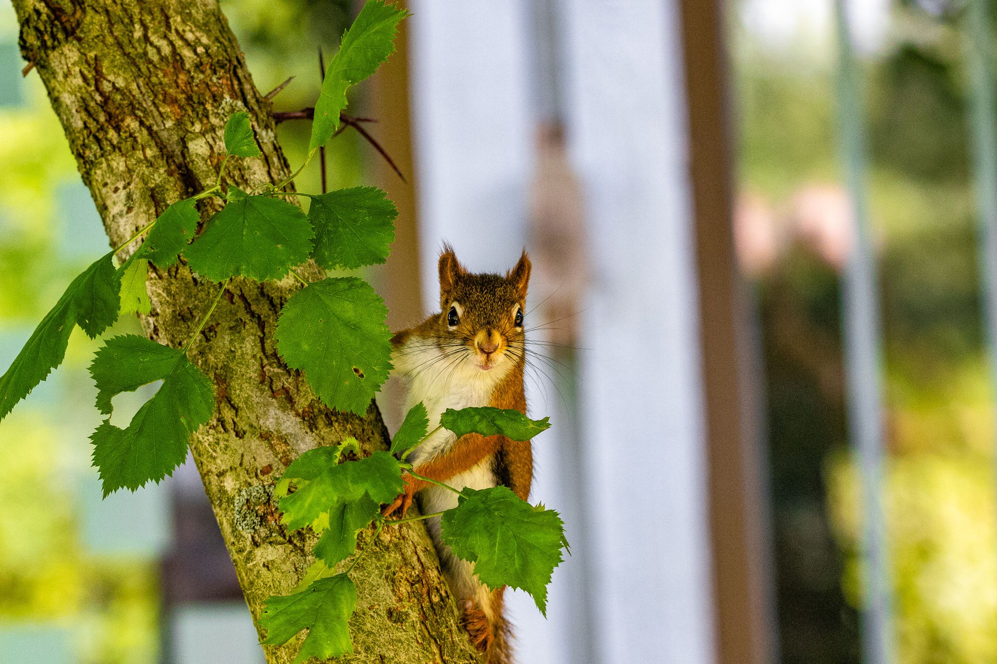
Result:
{"label": "entire blurred background of posts and greenery behind tree and squirrel", "polygon": [[[406,180],[351,130],[329,187],[399,206],[370,274],[395,329],[445,239],[478,271],[531,253],[532,498],[572,556],[546,620],[513,595],[519,661],[997,662],[997,7],[407,4],[351,107]],[[296,77],[278,111],[359,8],[222,5],[261,91]],[[4,368],[108,246],[24,64],[2,7]],[[299,164],[307,123],[279,133]],[[95,348],[0,423],[0,663],[262,662],[192,464],[100,499]]]}

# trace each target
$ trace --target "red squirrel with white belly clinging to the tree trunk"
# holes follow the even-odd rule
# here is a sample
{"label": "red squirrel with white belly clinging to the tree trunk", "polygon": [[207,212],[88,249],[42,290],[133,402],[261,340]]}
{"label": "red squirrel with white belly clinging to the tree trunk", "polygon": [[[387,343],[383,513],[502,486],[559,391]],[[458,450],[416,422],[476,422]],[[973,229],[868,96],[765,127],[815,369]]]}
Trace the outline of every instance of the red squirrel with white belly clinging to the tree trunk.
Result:
{"label": "red squirrel with white belly clinging to the tree trunk", "polygon": [[[448,408],[494,406],[526,412],[523,392],[523,332],[530,263],[526,252],[506,274],[474,274],[444,246],[440,256],[440,308],[419,325],[392,338],[392,363],[408,382],[406,410],[419,402],[429,413],[430,429]],[[502,436],[468,434],[455,440],[441,430],[420,445],[410,461],[418,475],[455,489],[504,485],[519,498],[529,496],[533,456],[529,442]],[[384,513],[413,497],[424,513],[457,506],[457,495],[405,476],[405,493]],[[463,611],[464,625],[489,664],[508,664],[508,627],[502,616],[504,586],[490,591],[474,573],[474,564],[457,558],[440,538],[440,517],[427,519],[444,575]]]}

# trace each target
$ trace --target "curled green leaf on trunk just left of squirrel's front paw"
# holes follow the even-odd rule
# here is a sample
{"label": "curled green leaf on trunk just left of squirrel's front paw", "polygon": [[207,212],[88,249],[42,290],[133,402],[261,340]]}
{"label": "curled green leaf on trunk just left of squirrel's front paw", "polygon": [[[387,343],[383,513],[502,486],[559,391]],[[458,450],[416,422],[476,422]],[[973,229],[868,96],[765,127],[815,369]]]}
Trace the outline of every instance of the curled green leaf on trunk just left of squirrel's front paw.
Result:
{"label": "curled green leaf on trunk just left of squirrel's front paw", "polygon": [[[330,465],[331,448],[309,450],[287,467],[281,482],[297,488],[280,498],[281,521],[290,530],[313,524],[337,502],[370,498],[377,504],[390,502],[404,489],[398,460],[387,452],[366,459]],[[303,460],[303,461],[302,461]],[[302,462],[295,467],[295,464]],[[373,518],[371,514],[371,518]]]}

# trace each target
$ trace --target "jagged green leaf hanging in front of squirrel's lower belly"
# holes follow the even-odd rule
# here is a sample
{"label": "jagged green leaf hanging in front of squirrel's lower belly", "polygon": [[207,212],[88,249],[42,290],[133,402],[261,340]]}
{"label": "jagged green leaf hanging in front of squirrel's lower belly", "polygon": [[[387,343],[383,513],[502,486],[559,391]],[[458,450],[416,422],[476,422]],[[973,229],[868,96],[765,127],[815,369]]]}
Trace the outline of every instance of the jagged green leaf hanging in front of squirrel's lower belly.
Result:
{"label": "jagged green leaf hanging in front of squirrel's lower belly", "polygon": [[563,526],[556,511],[534,507],[508,487],[465,489],[441,517],[444,543],[475,563],[483,583],[525,590],[544,615],[547,583],[567,549]]}

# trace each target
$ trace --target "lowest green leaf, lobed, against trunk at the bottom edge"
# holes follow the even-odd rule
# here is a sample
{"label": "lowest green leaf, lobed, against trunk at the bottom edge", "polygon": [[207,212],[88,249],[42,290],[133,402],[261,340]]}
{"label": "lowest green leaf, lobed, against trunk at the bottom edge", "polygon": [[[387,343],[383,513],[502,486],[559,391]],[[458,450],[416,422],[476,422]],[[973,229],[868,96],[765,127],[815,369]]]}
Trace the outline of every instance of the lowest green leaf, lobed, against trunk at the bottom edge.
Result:
{"label": "lowest green leaf, lobed, against trunk at the bottom edge", "polygon": [[259,619],[259,626],[266,630],[263,643],[281,645],[307,629],[294,664],[309,657],[325,661],[351,653],[348,623],[356,607],[357,588],[346,574],[312,581],[293,595],[270,596]]}

